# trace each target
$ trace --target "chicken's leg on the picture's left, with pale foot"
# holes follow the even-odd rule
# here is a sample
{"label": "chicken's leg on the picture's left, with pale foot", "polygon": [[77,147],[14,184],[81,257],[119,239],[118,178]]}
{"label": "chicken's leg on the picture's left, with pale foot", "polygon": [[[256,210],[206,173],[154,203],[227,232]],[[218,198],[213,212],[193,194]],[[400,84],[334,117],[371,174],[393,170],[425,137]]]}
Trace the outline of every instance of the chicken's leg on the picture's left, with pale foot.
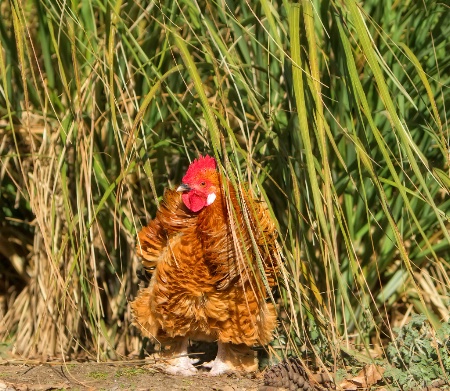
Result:
{"label": "chicken's leg on the picture's left, with pale foot", "polygon": [[191,359],[187,354],[189,338],[176,338],[169,350],[161,353],[161,358],[166,364],[162,369],[172,375],[191,376],[197,373],[197,368],[192,365]]}

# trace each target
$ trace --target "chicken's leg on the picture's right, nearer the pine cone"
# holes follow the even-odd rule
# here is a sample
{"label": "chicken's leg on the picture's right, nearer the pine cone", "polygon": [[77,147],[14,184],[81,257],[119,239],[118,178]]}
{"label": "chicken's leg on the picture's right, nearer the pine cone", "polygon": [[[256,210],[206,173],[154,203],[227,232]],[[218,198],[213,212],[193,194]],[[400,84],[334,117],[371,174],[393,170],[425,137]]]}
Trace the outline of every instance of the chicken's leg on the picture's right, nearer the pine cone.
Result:
{"label": "chicken's leg on the picture's right, nearer the pine cone", "polygon": [[218,343],[216,359],[208,365],[212,376],[227,372],[254,372],[258,369],[255,352],[244,344]]}

